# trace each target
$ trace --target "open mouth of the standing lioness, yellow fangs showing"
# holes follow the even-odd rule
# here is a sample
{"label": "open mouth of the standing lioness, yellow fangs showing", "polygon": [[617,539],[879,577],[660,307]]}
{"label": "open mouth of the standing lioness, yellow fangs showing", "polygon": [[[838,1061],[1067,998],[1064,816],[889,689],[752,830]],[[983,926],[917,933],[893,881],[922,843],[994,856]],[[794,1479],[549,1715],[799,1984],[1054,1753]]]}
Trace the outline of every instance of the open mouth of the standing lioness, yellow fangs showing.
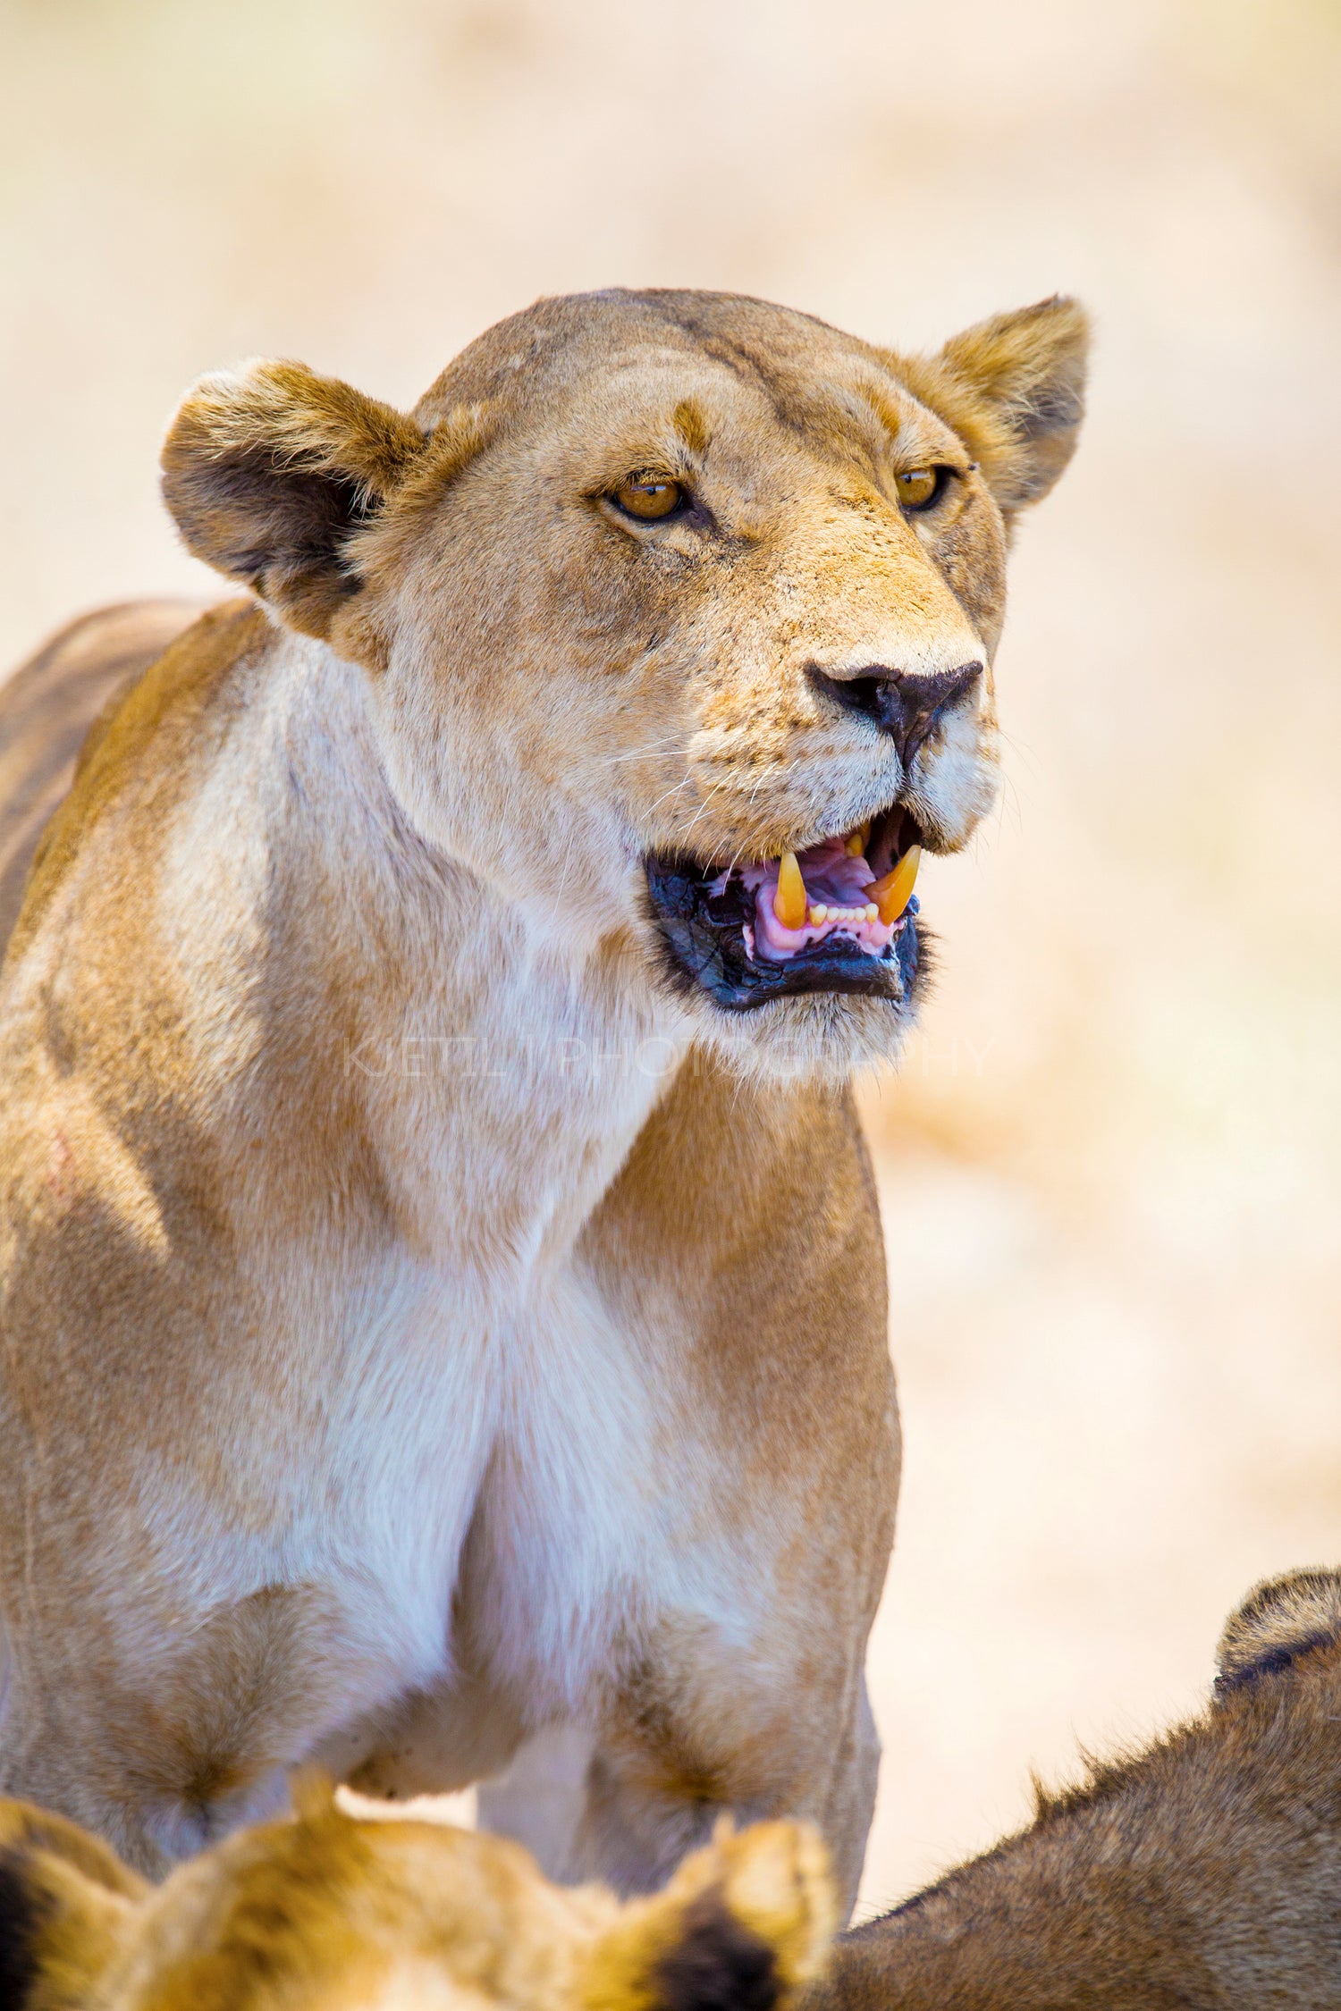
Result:
{"label": "open mouth of the standing lioness, yellow fangs showing", "polygon": [[756,865],[651,855],[651,911],[682,983],[748,1012],[798,991],[907,1003],[919,971],[923,835],[901,804],[802,853]]}

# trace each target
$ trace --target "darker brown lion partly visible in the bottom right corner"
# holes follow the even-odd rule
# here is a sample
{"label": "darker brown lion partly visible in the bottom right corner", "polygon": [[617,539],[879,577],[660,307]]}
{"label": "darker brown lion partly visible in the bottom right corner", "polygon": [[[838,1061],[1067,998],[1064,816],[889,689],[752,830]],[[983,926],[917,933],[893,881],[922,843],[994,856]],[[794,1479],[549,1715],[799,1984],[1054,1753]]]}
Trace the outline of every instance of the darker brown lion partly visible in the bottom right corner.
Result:
{"label": "darker brown lion partly visible in the bottom right corner", "polygon": [[806,2011],[1341,2005],[1341,1575],[1257,1587],[1218,1669],[1202,1717],[844,1935]]}

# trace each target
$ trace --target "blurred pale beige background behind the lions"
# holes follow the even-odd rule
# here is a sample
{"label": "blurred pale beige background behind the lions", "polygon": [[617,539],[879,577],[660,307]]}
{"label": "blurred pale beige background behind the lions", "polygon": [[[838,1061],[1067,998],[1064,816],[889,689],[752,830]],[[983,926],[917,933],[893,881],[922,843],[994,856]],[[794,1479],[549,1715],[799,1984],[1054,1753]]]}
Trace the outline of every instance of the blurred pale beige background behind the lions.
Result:
{"label": "blurred pale beige background behind the lions", "polygon": [[1192,1705],[1341,1559],[1335,0],[0,0],[0,654],[209,593],[185,384],[408,404],[537,294],[730,288],[929,346],[1068,290],[1007,784],[865,1092],[907,1476],[865,1908]]}

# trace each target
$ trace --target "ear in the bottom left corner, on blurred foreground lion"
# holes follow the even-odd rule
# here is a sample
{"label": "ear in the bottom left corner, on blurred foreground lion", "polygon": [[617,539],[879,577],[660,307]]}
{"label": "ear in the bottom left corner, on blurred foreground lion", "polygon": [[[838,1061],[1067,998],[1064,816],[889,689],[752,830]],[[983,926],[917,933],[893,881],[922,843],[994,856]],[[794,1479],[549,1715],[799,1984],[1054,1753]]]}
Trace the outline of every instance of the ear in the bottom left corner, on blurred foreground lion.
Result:
{"label": "ear in the bottom left corner, on blurred foreground lion", "polygon": [[0,2005],[82,2011],[149,1886],[97,1836],[0,1800]]}

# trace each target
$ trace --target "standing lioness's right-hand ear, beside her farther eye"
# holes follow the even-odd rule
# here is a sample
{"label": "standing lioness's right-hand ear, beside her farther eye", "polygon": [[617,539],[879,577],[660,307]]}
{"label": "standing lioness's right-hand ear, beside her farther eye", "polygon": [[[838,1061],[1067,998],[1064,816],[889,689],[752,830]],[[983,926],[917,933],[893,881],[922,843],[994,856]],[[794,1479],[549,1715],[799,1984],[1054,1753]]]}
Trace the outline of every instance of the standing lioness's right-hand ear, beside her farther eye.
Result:
{"label": "standing lioness's right-hand ear, beside her farther eye", "polygon": [[981,463],[1003,515],[1037,503],[1076,450],[1086,408],[1090,322],[1058,294],[951,336],[899,374]]}

